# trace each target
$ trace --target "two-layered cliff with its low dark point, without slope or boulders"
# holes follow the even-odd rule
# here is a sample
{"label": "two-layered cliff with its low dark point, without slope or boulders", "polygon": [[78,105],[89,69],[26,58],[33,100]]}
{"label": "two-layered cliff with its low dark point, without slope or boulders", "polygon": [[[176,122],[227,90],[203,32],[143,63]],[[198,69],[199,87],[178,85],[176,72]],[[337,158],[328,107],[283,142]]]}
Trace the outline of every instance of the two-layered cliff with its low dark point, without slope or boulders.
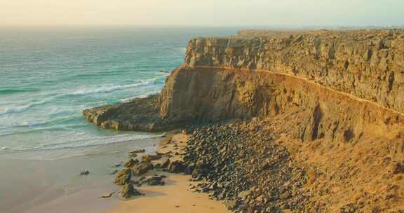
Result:
{"label": "two-layered cliff with its low dark point, without slope or boulders", "polygon": [[403,75],[403,30],[245,31],[189,41],[156,97],[83,114],[102,128],[159,131],[298,108],[311,113],[295,137],[355,138],[365,125],[402,124]]}

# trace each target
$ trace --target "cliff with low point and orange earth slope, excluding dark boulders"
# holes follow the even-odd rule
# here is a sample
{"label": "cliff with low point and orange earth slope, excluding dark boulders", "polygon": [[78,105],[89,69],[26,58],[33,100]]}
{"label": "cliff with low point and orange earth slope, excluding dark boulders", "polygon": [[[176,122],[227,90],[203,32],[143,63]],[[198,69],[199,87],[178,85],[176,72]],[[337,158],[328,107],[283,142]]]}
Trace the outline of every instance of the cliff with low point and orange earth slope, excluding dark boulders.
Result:
{"label": "cliff with low point and orange earth slope, excluding dark boulders", "polygon": [[83,114],[102,128],[150,131],[254,118],[253,130],[271,132],[306,172],[303,212],[400,212],[403,54],[402,30],[192,39],[159,95]]}

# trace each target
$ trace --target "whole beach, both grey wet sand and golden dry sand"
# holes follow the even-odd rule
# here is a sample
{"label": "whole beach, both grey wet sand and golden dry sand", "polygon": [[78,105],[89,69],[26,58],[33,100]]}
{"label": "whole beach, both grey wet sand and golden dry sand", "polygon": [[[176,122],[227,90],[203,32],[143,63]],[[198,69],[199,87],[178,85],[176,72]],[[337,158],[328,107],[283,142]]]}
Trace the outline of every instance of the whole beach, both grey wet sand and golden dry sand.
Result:
{"label": "whole beach, both grey wet sand and golden dry sand", "polygon": [[[191,184],[197,183],[189,181],[190,175],[154,170],[144,176],[164,174],[167,176],[165,186],[142,186],[137,189],[144,196],[131,200],[119,198],[119,186],[113,183],[115,175],[110,173],[119,170],[118,165],[128,159],[127,151],[144,147],[147,151],[143,155],[156,151],[181,152],[186,140],[187,136],[179,134],[173,135],[170,144],[164,143],[166,138],[125,142],[102,147],[104,151],[99,154],[60,160],[1,156],[0,212],[228,212],[222,202],[210,200],[206,193],[193,192]],[[116,152],[105,153],[106,150]],[[29,153],[36,154],[40,153]],[[180,158],[175,155],[170,159]],[[88,170],[90,174],[80,175],[81,170]],[[100,198],[112,192],[111,198]]]}

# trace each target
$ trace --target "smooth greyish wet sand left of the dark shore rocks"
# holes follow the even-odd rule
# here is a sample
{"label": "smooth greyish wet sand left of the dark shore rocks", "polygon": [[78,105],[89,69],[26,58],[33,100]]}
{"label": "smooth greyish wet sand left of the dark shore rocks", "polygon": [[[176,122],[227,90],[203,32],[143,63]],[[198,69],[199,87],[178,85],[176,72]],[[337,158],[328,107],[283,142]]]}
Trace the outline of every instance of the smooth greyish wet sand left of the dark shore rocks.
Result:
{"label": "smooth greyish wet sand left of the dark shore rocks", "polygon": [[[103,212],[119,202],[113,170],[128,149],[156,151],[161,138],[97,147],[86,156],[59,160],[24,160],[41,152],[0,156],[0,213]],[[65,151],[68,152],[68,151]],[[90,174],[80,175],[81,170]],[[115,191],[112,198],[100,196]]]}

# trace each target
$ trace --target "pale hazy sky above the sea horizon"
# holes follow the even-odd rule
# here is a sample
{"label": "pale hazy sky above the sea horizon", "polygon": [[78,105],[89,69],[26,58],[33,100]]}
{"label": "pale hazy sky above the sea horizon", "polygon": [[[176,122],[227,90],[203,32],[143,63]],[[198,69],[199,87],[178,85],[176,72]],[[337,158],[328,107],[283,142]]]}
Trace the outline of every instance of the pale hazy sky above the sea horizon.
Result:
{"label": "pale hazy sky above the sea horizon", "polygon": [[404,0],[0,0],[0,25],[403,25]]}

